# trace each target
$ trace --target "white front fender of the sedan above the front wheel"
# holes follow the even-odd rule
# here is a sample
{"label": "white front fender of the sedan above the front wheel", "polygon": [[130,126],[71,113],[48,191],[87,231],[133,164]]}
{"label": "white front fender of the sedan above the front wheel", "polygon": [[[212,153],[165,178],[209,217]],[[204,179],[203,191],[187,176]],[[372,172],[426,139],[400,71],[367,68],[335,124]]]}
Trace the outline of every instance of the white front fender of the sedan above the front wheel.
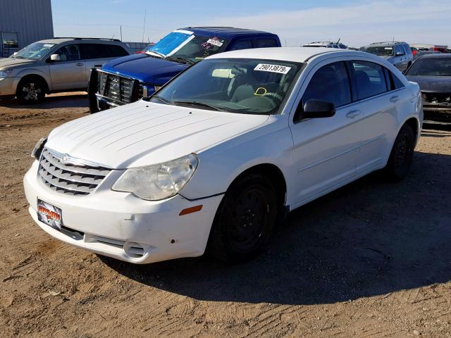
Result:
{"label": "white front fender of the sedan above the front wheel", "polygon": [[223,194],[238,175],[264,163],[276,165],[288,181],[292,164],[288,115],[272,115],[265,125],[199,151],[198,156],[199,168],[180,192],[187,199]]}

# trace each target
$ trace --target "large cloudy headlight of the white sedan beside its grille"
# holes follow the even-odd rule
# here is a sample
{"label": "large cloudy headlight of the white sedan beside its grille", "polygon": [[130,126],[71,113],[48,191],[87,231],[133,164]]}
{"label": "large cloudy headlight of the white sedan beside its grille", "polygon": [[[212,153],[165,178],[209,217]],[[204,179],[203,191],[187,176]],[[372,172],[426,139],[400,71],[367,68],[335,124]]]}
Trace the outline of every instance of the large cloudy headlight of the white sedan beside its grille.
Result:
{"label": "large cloudy headlight of the white sedan beside its grille", "polygon": [[113,185],[116,192],[131,192],[141,199],[158,201],[185,187],[199,165],[194,154],[148,167],[130,168]]}

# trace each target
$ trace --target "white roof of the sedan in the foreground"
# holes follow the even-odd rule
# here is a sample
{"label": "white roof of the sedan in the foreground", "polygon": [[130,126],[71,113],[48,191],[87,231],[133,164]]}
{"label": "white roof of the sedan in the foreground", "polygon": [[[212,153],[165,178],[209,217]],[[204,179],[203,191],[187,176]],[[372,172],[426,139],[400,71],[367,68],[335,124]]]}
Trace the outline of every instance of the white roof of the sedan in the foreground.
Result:
{"label": "white roof of the sedan in the foreground", "polygon": [[350,51],[347,49],[326,48],[326,47],[270,47],[241,49],[239,51],[226,51],[220,54],[209,56],[211,58],[261,58],[267,60],[280,60],[292,62],[306,62],[310,58],[322,54],[337,54],[337,56],[362,56],[365,58],[375,58],[379,60],[379,56],[373,56],[363,51]]}

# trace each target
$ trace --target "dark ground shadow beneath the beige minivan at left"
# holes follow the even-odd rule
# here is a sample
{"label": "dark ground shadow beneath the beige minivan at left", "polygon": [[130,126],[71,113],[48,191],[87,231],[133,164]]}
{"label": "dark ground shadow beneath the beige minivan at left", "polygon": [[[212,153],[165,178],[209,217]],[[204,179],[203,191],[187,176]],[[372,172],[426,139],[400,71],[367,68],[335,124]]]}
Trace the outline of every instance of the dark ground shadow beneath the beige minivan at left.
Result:
{"label": "dark ground shadow beneath the beige minivan at left", "polygon": [[40,104],[23,105],[17,99],[2,99],[0,106],[7,108],[49,109],[49,108],[87,108],[89,101],[87,93],[52,94],[46,96]]}

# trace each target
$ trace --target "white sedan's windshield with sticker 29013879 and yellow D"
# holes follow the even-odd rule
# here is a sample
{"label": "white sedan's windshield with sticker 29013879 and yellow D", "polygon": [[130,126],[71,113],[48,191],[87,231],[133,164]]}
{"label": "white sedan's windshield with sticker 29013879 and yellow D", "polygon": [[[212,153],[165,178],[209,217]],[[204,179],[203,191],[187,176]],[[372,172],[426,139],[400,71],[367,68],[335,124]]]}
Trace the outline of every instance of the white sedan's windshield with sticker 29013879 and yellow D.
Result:
{"label": "white sedan's windshield with sticker 29013879 and yellow D", "polygon": [[205,60],[175,77],[150,100],[231,113],[275,114],[301,66],[273,60]]}

